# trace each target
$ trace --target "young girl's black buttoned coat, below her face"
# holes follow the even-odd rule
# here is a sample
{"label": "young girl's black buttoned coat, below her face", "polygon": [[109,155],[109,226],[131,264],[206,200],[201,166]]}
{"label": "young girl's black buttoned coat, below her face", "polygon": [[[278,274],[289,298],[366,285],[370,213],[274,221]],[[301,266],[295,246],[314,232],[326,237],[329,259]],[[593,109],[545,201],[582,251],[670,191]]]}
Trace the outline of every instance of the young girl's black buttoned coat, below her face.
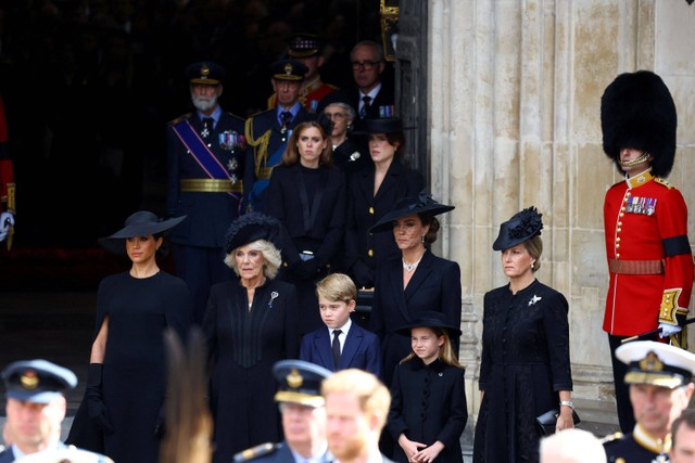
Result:
{"label": "young girl's black buttoned coat, below her face", "polygon": [[459,441],[468,421],[464,373],[440,359],[426,365],[417,357],[395,368],[388,421],[396,442],[394,461],[408,461],[397,443],[401,434],[428,447],[441,441],[444,449],[434,460],[438,463],[464,461]]}

